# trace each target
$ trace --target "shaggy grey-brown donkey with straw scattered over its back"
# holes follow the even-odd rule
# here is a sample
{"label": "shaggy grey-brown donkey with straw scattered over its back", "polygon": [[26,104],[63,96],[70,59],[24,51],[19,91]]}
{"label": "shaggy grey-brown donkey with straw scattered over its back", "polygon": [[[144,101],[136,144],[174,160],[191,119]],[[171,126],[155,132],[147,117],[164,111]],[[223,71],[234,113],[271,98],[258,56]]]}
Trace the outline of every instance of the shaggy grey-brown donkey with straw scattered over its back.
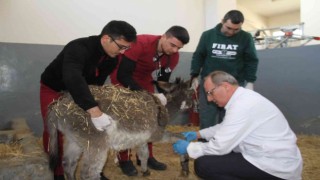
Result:
{"label": "shaggy grey-brown donkey with straw scattered over its back", "polygon": [[[168,106],[180,106],[183,99],[191,97],[191,91],[187,90],[188,82],[161,83],[159,86],[168,92]],[[64,134],[63,166],[69,180],[75,179],[80,157],[83,163],[80,178],[99,179],[108,149],[119,151],[137,146],[142,172],[147,175],[147,142],[159,141],[164,137],[169,120],[168,110],[148,92],[130,91],[111,85],[90,86],[90,90],[100,109],[112,117],[111,125],[106,131],[98,131],[90,115],[74,103],[70,94],[65,93],[49,108],[50,168],[54,169],[57,165],[59,130]],[[164,139],[176,140],[168,134]]]}

